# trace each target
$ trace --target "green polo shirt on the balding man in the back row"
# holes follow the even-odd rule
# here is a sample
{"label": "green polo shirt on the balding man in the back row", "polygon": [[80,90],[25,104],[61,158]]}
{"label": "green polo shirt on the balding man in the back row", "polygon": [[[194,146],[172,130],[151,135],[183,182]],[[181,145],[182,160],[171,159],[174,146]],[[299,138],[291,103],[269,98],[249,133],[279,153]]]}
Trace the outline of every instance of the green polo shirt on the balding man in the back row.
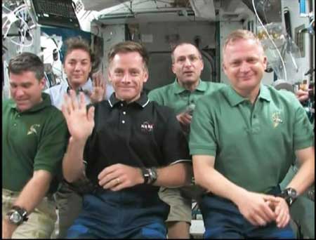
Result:
{"label": "green polo shirt on the balding man in the back row", "polygon": [[160,105],[171,107],[176,114],[184,112],[188,105],[196,104],[197,100],[206,94],[216,91],[225,84],[213,83],[199,80],[199,85],[195,91],[188,91],[174,81],[172,84],[156,88],[148,94],[150,100],[158,102]]}

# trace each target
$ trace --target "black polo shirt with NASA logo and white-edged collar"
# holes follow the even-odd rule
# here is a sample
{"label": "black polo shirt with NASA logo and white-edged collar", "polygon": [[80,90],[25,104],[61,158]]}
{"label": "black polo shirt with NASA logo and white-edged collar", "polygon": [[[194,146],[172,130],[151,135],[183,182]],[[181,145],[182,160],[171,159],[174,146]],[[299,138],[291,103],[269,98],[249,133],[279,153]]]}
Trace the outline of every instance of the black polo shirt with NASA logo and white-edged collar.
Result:
{"label": "black polo shirt with NASA logo and white-edged collar", "polygon": [[94,106],[95,126],[84,150],[86,175],[94,184],[100,171],[112,164],[159,167],[191,161],[176,114],[145,93],[129,104],[113,93]]}

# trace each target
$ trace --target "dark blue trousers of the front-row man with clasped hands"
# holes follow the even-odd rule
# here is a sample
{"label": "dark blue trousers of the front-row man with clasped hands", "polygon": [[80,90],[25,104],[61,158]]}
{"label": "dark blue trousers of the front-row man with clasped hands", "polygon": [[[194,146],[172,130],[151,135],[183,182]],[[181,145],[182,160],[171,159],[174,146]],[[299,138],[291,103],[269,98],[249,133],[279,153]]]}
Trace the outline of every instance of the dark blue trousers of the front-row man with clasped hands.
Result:
{"label": "dark blue trousers of the front-row man with clasped hands", "polygon": [[295,238],[289,224],[284,228],[278,228],[275,222],[264,227],[251,225],[232,201],[219,196],[204,195],[199,208],[204,220],[204,239]]}

